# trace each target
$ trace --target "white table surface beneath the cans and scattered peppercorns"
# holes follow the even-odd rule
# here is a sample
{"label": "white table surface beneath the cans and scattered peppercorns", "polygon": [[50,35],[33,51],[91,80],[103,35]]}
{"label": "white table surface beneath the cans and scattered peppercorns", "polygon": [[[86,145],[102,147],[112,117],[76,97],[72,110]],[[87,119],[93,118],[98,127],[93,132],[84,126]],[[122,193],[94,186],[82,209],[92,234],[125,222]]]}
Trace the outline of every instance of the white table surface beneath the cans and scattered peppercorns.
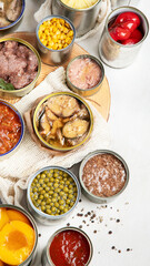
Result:
{"label": "white table surface beneath the cans and scattered peppercorns", "polygon": [[[18,31],[34,31],[33,13],[42,0],[27,0],[26,14]],[[150,18],[150,1],[141,0],[138,8]],[[89,53],[98,55],[99,35],[89,38],[82,45]],[[41,226],[39,233],[39,256],[48,238],[67,223],[72,226],[82,225],[93,243],[91,266],[148,266],[150,265],[150,37],[144,41],[140,53],[131,66],[114,70],[106,66],[111,91],[111,109],[109,126],[111,150],[118,152],[127,161],[130,168],[130,182],[127,190],[106,208],[90,203],[82,196],[72,216],[56,226]],[[99,208],[98,208],[99,206]],[[96,211],[99,223],[87,222],[78,217]],[[83,224],[82,221],[87,224]],[[117,223],[117,219],[120,219]],[[97,231],[97,233],[93,233]],[[111,231],[112,234],[108,234]],[[116,249],[111,247],[116,246]],[[127,248],[132,250],[127,252]],[[121,250],[119,253],[118,250]],[[40,266],[36,262],[34,266]],[[61,266],[61,265],[60,265]]]}

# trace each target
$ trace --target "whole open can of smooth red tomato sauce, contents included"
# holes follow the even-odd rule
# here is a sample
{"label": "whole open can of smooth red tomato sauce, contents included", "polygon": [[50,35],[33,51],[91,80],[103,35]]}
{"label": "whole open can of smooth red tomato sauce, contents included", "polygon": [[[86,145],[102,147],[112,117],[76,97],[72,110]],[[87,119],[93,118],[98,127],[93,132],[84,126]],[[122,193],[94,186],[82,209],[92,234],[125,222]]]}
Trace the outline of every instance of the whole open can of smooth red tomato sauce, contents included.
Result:
{"label": "whole open can of smooth red tomato sauce, contents included", "polygon": [[93,254],[89,236],[76,227],[63,227],[49,239],[42,253],[42,266],[88,266]]}

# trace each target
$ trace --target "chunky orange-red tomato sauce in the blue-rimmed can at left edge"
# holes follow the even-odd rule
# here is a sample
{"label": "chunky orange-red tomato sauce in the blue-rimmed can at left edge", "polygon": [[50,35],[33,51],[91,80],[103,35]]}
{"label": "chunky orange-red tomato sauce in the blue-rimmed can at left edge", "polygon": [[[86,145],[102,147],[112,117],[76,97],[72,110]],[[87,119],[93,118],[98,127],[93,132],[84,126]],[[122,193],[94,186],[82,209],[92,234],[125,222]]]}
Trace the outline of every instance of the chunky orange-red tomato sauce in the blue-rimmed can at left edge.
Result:
{"label": "chunky orange-red tomato sauce in the blue-rimmed can at left edge", "polygon": [[21,121],[9,106],[0,103],[0,154],[12,150],[21,135]]}

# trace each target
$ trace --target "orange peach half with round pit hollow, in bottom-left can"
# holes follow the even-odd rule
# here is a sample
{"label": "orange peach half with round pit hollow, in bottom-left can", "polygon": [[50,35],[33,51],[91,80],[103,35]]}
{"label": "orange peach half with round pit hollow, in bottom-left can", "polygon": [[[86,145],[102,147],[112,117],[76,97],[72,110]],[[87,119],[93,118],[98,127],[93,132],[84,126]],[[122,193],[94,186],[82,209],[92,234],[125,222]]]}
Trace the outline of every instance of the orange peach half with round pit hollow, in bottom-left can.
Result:
{"label": "orange peach half with round pit hollow, in bottom-left can", "polygon": [[0,232],[0,259],[9,265],[20,265],[31,254],[34,246],[33,228],[21,222],[12,221]]}

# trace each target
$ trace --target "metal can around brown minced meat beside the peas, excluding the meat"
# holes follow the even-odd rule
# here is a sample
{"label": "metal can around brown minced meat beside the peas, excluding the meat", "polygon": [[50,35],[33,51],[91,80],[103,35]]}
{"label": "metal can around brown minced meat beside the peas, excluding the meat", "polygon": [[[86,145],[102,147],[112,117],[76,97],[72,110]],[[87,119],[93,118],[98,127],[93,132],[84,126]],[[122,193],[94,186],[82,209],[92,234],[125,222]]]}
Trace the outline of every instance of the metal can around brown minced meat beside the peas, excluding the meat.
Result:
{"label": "metal can around brown minced meat beside the peas, excluding the meat", "polygon": [[[82,173],[83,173],[83,167],[86,165],[86,163],[93,156],[96,155],[99,155],[99,154],[110,154],[110,155],[113,155],[114,157],[117,157],[123,165],[124,167],[124,171],[126,171],[126,183],[124,183],[124,186],[122,187],[122,190],[114,194],[113,196],[109,196],[109,197],[100,197],[100,196],[96,196],[94,194],[90,193],[83,181],[82,181]],[[81,184],[81,187],[82,187],[82,192],[84,194],[84,196],[87,196],[91,202],[93,203],[100,203],[100,204],[106,204],[106,203],[110,203],[112,202],[117,196],[119,196],[127,187],[128,183],[129,183],[129,168],[128,168],[128,165],[127,163],[124,162],[124,160],[116,152],[112,152],[112,151],[109,151],[109,150],[97,150],[92,153],[89,153],[84,158],[83,161],[81,162],[80,164],[80,168],[79,168],[79,181],[80,181],[80,184]]]}

